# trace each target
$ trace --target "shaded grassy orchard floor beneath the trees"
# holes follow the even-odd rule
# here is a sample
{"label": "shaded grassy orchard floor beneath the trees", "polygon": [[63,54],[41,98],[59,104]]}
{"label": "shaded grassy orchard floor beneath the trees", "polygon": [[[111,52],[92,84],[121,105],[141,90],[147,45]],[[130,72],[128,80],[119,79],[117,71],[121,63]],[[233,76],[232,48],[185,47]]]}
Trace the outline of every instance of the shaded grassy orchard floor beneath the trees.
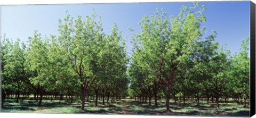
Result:
{"label": "shaded grassy orchard floor beneath the trees", "polygon": [[182,116],[249,116],[250,106],[243,108],[243,104],[237,104],[229,101],[229,103],[220,103],[220,109],[216,109],[215,103],[207,105],[206,102],[200,101],[200,105],[196,106],[194,101],[186,102],[183,105],[182,101],[176,104],[171,100],[170,109],[172,113],[165,113],[165,101],[158,102],[158,106],[141,104],[134,99],[117,100],[114,103],[102,105],[99,100],[98,106],[94,106],[94,102],[89,100],[85,103],[85,110],[81,108],[81,104],[70,104],[63,100],[43,100],[42,106],[33,99],[19,100],[15,103],[15,99],[6,99],[2,112],[12,113],[64,113],[64,114],[129,114],[129,115],[182,115]]}

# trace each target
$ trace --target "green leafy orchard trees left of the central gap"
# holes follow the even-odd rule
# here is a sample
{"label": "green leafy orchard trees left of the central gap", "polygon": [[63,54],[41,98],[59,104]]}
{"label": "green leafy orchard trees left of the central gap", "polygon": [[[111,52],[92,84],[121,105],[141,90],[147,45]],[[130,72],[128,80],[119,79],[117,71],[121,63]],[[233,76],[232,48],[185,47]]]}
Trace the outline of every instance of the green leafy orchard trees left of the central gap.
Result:
{"label": "green leafy orchard trees left of the central gap", "polygon": [[[35,31],[28,44],[4,38],[2,56],[2,106],[5,97],[34,95],[38,105],[44,96],[79,98],[82,109],[85,97],[126,96],[129,79],[126,75],[126,47],[114,24],[110,35],[102,31],[98,16],[69,15],[59,20],[58,37],[42,38]],[[92,92],[93,91],[93,92]],[[92,93],[94,95],[92,95]],[[104,102],[104,101],[103,101]],[[104,104],[104,103],[103,103]]]}

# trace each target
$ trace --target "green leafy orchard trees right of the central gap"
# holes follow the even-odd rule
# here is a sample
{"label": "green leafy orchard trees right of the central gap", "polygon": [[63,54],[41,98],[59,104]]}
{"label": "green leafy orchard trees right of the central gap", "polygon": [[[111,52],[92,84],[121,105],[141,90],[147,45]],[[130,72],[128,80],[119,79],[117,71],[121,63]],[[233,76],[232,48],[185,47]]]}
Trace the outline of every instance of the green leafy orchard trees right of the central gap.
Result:
{"label": "green leafy orchard trees right of the central gap", "polygon": [[168,17],[157,10],[155,15],[144,15],[140,21],[141,33],[133,37],[132,61],[129,66],[130,96],[166,99],[166,112],[170,111],[170,98],[243,98],[249,99],[249,41],[242,40],[240,52],[230,56],[214,39],[215,31],[203,37],[204,6],[183,6],[178,17]]}

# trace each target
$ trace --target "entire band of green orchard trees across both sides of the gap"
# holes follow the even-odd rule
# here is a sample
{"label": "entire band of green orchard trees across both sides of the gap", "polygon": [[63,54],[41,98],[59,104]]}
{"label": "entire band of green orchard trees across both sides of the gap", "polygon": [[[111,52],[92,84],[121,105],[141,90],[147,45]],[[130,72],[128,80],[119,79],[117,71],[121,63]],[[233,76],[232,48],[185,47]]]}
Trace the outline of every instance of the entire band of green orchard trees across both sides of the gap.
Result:
{"label": "entire band of green orchard trees across both sides of the gap", "polygon": [[[102,29],[95,13],[82,20],[69,15],[59,20],[59,36],[42,38],[34,33],[28,44],[4,38],[1,42],[2,103],[5,97],[20,99],[34,95],[35,100],[69,96],[102,98],[102,104],[115,98],[134,97],[146,101],[215,98],[249,99],[249,38],[242,40],[239,53],[230,55],[212,35],[205,37],[201,26],[206,18],[204,6],[182,6],[178,16],[157,10],[144,15],[141,33],[132,37],[132,55],[127,56],[125,41],[114,24],[110,35]],[[96,21],[95,19],[99,19]],[[130,63],[129,63],[130,62]],[[127,91],[129,95],[127,95]],[[48,97],[49,98],[49,97]],[[3,106],[3,105],[2,105]]]}

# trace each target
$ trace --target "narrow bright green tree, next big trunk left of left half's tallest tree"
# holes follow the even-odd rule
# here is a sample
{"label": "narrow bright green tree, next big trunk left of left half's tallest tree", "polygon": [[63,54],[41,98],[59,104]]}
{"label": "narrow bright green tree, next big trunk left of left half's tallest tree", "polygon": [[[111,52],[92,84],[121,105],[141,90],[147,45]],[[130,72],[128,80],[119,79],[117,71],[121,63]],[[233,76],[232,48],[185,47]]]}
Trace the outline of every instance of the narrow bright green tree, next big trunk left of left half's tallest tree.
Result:
{"label": "narrow bright green tree, next big trunk left of left half's tallest tree", "polygon": [[26,61],[28,63],[28,70],[33,73],[29,78],[32,86],[37,90],[40,96],[38,105],[42,104],[43,96],[46,89],[50,87],[52,78],[49,72],[49,45],[47,40],[43,40],[40,33],[35,31],[33,37],[29,37],[29,44],[27,48]]}

